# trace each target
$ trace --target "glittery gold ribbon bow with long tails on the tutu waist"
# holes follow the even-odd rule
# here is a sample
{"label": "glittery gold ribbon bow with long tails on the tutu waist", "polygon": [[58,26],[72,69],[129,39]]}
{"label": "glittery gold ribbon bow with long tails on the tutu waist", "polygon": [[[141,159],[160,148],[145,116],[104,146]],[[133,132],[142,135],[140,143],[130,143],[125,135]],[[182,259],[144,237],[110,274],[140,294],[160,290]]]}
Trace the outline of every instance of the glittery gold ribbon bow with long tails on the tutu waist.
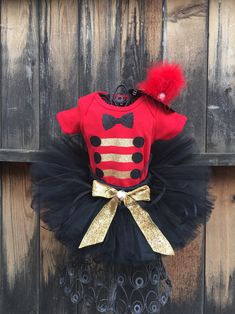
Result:
{"label": "glittery gold ribbon bow with long tails on the tutu waist", "polygon": [[174,255],[174,250],[168,240],[155,225],[150,215],[137,203],[137,201],[150,201],[150,189],[148,185],[143,185],[130,192],[125,192],[122,190],[118,191],[106,184],[94,180],[92,196],[111,198],[111,200],[101,208],[91,222],[79,248],[104,241],[111,222],[116,214],[118,204],[123,201],[152,250],[165,255]]}

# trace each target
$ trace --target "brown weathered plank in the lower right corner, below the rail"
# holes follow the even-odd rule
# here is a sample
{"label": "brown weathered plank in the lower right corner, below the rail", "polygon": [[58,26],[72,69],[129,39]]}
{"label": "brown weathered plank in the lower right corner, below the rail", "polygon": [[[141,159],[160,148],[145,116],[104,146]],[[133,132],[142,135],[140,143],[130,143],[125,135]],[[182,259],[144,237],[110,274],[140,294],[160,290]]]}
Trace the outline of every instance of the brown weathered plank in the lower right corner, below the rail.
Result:
{"label": "brown weathered plank in the lower right corner, below the rail", "polygon": [[235,168],[215,169],[213,215],[206,228],[206,314],[235,309]]}

